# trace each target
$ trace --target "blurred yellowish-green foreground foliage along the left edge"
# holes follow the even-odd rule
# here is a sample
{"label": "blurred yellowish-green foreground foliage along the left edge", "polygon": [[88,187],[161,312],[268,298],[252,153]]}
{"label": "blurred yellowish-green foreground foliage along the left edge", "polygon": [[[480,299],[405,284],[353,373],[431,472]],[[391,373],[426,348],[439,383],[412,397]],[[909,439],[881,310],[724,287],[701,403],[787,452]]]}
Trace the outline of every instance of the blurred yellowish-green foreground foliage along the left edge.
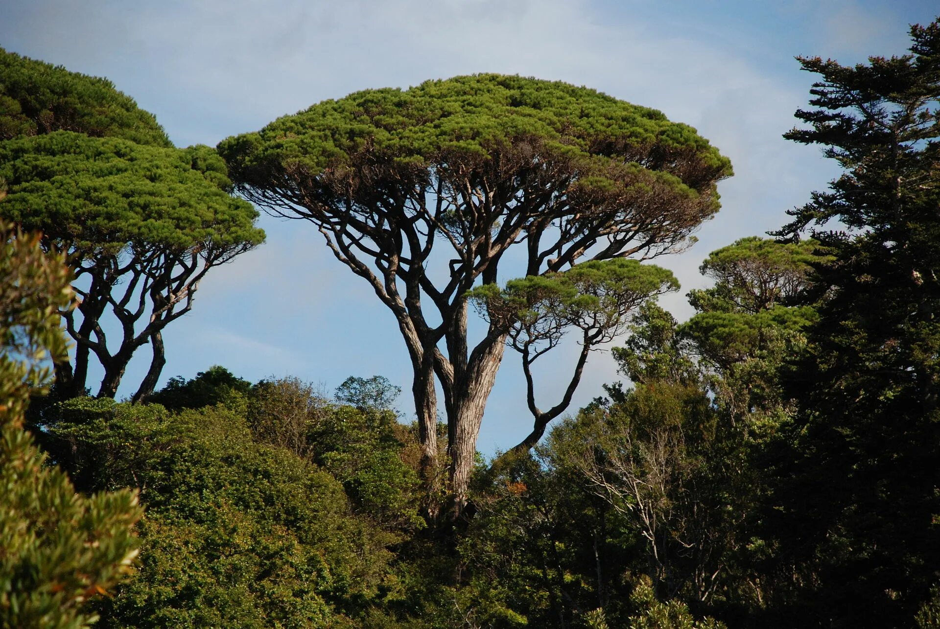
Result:
{"label": "blurred yellowish-green foreground foliage along the left edge", "polygon": [[130,491],[75,495],[24,431],[43,363],[66,355],[58,310],[70,307],[71,275],[38,235],[4,225],[0,239],[0,625],[86,627],[88,599],[130,572],[140,508]]}

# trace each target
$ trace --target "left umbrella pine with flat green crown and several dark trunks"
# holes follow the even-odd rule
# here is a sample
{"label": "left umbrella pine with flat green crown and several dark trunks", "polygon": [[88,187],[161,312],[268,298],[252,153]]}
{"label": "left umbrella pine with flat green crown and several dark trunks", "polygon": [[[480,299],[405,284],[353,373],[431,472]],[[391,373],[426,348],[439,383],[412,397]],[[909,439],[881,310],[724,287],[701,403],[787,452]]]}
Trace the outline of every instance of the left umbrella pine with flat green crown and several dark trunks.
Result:
{"label": "left umbrella pine with flat green crown and several dark trunks", "polygon": [[[98,395],[114,397],[134,352],[149,343],[146,398],[163,369],[163,330],[193,307],[212,267],[259,244],[258,213],[228,194],[222,160],[208,147],[170,149],[54,132],[0,142],[8,196],[0,215],[41,229],[47,248],[70,254],[81,303],[64,314],[74,366],[58,371],[67,397],[85,392],[88,360],[104,368]],[[108,342],[106,313],[118,322]]]}

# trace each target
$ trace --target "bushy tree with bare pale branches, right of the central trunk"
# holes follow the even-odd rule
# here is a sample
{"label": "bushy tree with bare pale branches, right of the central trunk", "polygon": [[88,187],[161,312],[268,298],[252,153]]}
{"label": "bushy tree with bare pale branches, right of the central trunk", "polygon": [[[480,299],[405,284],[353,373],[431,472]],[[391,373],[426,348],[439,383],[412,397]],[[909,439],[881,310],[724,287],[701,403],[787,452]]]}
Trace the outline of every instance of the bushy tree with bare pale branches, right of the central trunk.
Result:
{"label": "bushy tree with bare pale branches, right of the central trunk", "polygon": [[696,386],[660,382],[622,395],[559,425],[552,461],[629,523],[642,541],[637,567],[660,596],[708,601],[723,586],[743,517],[729,496],[729,435]]}

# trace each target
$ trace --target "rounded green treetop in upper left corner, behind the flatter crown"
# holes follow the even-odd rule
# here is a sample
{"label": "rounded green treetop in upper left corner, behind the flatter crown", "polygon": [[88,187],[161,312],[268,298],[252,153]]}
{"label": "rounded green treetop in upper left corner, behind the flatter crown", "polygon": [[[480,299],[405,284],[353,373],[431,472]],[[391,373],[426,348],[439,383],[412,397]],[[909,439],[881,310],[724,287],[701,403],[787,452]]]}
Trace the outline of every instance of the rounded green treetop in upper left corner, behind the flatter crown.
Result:
{"label": "rounded green treetop in upper left corner, behind the flatter crown", "polygon": [[0,140],[55,131],[172,146],[156,118],[107,79],[0,48]]}

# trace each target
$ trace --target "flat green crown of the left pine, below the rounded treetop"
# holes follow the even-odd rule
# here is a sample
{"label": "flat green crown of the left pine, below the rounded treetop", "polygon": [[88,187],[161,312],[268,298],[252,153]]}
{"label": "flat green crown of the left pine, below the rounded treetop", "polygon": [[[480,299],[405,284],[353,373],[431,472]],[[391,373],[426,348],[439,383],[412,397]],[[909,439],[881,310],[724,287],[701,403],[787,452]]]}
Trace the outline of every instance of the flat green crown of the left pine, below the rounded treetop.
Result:
{"label": "flat green crown of the left pine, below the rounded treetop", "polygon": [[55,132],[0,143],[7,197],[0,214],[77,251],[127,243],[184,250],[259,244],[258,212],[228,194],[226,165],[209,147],[149,147]]}

